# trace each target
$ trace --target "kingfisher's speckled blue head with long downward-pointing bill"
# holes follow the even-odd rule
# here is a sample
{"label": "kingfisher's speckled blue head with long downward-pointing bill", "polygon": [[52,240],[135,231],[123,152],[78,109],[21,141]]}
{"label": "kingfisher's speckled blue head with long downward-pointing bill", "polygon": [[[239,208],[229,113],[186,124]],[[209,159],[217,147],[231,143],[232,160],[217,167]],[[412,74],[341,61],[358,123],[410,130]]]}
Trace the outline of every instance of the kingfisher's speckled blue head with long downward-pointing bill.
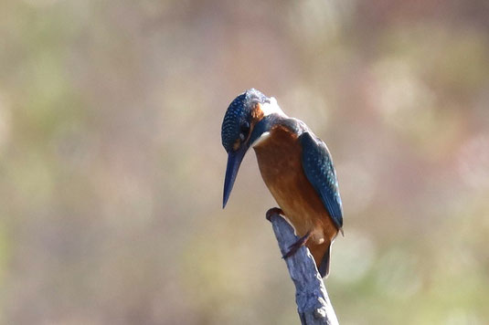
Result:
{"label": "kingfisher's speckled blue head with long downward-pointing bill", "polygon": [[257,125],[273,113],[283,114],[274,98],[263,95],[257,89],[246,90],[229,104],[221,128],[222,145],[228,152],[223,207],[228,202],[245,153],[268,134],[265,125]]}

